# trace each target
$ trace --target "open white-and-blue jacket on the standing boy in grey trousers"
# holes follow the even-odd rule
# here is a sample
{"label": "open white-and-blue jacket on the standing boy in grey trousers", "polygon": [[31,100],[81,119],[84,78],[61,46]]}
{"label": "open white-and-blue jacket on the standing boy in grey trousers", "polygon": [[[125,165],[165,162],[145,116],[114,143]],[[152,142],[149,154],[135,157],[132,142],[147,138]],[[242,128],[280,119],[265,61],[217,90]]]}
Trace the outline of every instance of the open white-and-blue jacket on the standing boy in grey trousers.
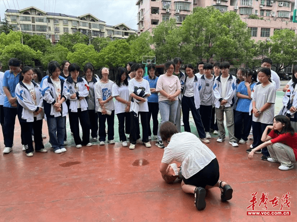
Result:
{"label": "open white-and-blue jacket on the standing boy in grey trousers", "polygon": [[231,107],[233,106],[235,99],[234,96],[236,94],[236,78],[229,74],[229,79],[227,80],[227,86],[226,86],[226,96],[225,98],[222,98],[222,82],[221,82],[221,76],[220,74],[217,78],[214,80],[214,86],[213,86],[213,95],[214,95],[214,106],[216,108],[220,108],[221,101],[223,99],[227,100],[227,103],[225,104],[225,107]]}

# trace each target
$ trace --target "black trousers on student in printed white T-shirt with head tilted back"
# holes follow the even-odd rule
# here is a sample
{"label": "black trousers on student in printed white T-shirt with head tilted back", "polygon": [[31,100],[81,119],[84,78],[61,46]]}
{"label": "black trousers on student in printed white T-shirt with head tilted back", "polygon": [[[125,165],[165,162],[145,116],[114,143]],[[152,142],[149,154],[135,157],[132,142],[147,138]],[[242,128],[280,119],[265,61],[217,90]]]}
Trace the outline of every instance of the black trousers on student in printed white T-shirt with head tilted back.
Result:
{"label": "black trousers on student in printed white T-shirt with head tilted back", "polygon": [[105,122],[107,121],[107,139],[114,139],[114,110],[111,111],[111,115],[98,112],[99,118],[99,141],[105,141],[106,132],[105,132]]}

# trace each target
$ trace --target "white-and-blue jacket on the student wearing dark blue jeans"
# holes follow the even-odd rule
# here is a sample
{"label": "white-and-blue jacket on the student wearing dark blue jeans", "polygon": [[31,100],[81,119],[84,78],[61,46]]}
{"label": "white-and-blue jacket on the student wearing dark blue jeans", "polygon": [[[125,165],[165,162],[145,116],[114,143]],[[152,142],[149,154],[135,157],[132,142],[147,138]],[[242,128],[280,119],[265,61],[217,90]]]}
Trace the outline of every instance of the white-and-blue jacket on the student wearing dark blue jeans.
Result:
{"label": "white-and-blue jacket on the student wearing dark blue jeans", "polygon": [[[66,92],[65,92],[66,90],[64,90],[63,88],[64,80],[62,80],[61,78],[59,79],[61,83],[61,98],[64,97],[65,100],[67,100]],[[65,101],[61,105],[61,112],[55,111],[53,107],[53,105],[56,102],[55,98],[57,97],[57,95],[50,77],[48,76],[47,78],[45,78],[41,85],[42,85],[41,92],[44,98],[44,107],[45,107],[44,110],[45,110],[46,116],[49,118],[66,116],[68,113],[68,108]]]}

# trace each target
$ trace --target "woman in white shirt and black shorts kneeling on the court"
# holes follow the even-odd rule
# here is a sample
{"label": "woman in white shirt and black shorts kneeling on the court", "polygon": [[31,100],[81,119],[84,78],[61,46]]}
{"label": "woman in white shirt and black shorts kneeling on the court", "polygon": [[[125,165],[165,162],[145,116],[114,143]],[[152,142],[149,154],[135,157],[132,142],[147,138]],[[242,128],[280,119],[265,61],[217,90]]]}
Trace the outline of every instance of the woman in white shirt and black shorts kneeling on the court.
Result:
{"label": "woman in white shirt and black shorts kneeling on the court", "polygon": [[200,139],[189,132],[178,133],[175,125],[165,122],[160,127],[163,141],[169,144],[164,149],[160,172],[165,180],[173,161],[181,163],[183,176],[182,190],[195,194],[195,206],[198,210],[206,207],[205,189],[221,188],[221,200],[232,198],[233,189],[226,182],[219,180],[219,164],[213,152]]}

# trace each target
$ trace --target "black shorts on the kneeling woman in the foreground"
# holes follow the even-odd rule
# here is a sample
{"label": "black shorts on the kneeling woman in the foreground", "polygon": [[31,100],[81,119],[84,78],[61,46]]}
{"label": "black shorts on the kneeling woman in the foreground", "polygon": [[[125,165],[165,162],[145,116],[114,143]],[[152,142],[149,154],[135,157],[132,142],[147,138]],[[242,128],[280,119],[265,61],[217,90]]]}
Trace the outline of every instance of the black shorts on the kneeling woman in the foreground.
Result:
{"label": "black shorts on the kneeling woman in the foreground", "polygon": [[206,185],[214,186],[220,178],[219,163],[214,158],[207,166],[191,178],[183,179],[186,184],[205,188]]}

